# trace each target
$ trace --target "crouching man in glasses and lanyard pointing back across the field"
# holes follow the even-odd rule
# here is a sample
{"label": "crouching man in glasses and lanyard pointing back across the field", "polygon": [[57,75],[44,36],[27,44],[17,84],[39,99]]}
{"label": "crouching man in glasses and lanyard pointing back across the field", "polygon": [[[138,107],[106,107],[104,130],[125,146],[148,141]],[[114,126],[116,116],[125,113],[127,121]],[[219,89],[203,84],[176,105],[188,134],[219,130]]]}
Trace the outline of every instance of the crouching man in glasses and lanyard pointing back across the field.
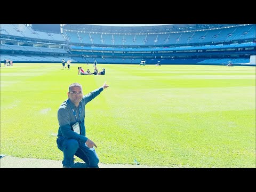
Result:
{"label": "crouching man in glasses and lanyard pointing back across the field", "polygon": [[57,147],[63,151],[63,168],[74,167],[74,155],[83,159],[87,167],[98,168],[97,145],[85,136],[85,105],[97,97],[109,85],[83,95],[82,85],[73,83],[68,88],[68,99],[58,109],[59,130]]}

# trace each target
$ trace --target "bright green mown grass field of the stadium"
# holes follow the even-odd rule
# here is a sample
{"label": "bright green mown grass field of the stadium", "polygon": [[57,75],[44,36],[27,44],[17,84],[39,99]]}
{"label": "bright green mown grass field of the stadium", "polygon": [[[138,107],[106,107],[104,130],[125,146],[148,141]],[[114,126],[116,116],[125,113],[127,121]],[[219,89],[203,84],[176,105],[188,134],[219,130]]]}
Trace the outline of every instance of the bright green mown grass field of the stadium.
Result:
{"label": "bright green mown grass field of the stadium", "polygon": [[[77,75],[61,63],[1,65],[1,154],[62,160],[57,111],[68,86],[89,93],[86,137],[101,163],[255,167],[255,67],[102,65]],[[78,159],[78,161],[81,159]]]}

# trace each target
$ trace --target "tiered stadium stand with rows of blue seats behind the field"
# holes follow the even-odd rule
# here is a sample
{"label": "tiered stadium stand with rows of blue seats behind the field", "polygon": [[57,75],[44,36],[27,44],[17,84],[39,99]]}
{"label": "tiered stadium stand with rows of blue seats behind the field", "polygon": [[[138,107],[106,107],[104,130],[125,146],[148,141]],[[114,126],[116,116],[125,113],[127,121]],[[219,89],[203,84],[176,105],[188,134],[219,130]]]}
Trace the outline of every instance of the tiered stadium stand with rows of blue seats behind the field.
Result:
{"label": "tiered stadium stand with rows of blue seats behind the field", "polygon": [[1,62],[247,65],[256,55],[256,25],[179,24],[109,27],[67,24],[63,33],[26,24],[1,25]]}

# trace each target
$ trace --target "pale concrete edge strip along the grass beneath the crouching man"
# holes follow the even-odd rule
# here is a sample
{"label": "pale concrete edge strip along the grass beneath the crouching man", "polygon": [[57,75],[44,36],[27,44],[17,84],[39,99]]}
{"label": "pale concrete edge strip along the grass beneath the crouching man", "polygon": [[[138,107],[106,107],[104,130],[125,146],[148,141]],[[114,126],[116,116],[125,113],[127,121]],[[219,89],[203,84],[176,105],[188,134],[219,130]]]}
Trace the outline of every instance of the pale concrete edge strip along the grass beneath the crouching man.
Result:
{"label": "pale concrete edge strip along the grass beneath the crouching man", "polygon": [[[3,156],[0,159],[0,168],[62,168],[62,161],[36,158],[20,158]],[[81,162],[79,162],[81,163]],[[162,166],[130,165],[130,164],[103,164],[100,168],[167,168]]]}

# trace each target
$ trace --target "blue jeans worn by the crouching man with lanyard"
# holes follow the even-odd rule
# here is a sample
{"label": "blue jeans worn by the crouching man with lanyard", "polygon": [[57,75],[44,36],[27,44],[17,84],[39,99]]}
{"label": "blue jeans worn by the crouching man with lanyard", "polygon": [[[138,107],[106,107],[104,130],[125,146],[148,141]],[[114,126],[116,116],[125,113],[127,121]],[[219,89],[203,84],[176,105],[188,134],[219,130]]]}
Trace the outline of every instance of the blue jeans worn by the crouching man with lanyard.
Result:
{"label": "blue jeans worn by the crouching man with lanyard", "polygon": [[83,159],[88,167],[99,167],[99,158],[95,156],[92,150],[85,146],[85,143],[79,143],[75,139],[66,137],[57,138],[57,146],[63,151],[63,166],[71,166],[74,164],[74,155]]}

